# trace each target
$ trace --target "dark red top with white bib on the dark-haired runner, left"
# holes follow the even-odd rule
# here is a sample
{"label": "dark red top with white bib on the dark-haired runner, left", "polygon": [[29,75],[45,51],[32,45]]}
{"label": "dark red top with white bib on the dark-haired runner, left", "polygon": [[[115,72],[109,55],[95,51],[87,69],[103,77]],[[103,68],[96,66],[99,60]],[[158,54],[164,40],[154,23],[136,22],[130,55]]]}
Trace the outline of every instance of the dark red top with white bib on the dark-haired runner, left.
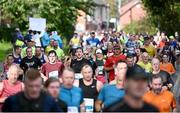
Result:
{"label": "dark red top with white bib on the dark-haired runner, left", "polygon": [[55,64],[50,64],[49,62],[42,65],[41,73],[46,77],[60,77],[63,69],[63,64],[61,62],[56,62]]}

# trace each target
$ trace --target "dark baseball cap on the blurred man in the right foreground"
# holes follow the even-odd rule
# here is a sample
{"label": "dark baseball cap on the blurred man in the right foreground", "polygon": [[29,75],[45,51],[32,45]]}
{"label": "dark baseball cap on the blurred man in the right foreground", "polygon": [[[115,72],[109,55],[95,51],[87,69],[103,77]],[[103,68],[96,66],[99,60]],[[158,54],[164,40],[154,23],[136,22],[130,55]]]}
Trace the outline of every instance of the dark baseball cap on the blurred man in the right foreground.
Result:
{"label": "dark baseball cap on the blurred man in the right foreground", "polygon": [[126,79],[148,80],[148,76],[143,68],[136,65],[134,67],[128,68]]}

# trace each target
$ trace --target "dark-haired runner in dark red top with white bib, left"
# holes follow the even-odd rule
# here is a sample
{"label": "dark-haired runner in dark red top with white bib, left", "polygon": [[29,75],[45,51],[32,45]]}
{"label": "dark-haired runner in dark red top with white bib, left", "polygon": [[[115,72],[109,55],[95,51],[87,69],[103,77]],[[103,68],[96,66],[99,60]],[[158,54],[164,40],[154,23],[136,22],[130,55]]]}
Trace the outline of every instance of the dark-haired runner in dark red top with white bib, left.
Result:
{"label": "dark-haired runner in dark red top with white bib, left", "polygon": [[41,67],[41,77],[46,81],[50,77],[59,78],[61,81],[61,74],[64,68],[62,62],[57,61],[57,54],[54,50],[48,53],[49,62]]}

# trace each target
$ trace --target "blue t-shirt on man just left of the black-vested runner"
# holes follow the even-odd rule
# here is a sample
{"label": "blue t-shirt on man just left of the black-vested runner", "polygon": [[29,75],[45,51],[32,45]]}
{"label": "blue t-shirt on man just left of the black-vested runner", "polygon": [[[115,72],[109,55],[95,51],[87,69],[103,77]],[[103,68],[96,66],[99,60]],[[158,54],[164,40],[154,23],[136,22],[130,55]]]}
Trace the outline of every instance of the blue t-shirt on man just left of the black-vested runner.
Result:
{"label": "blue t-shirt on man just left of the black-vested runner", "polygon": [[83,93],[81,88],[73,86],[71,89],[61,86],[59,99],[64,101],[67,106],[73,106],[79,108],[83,103]]}

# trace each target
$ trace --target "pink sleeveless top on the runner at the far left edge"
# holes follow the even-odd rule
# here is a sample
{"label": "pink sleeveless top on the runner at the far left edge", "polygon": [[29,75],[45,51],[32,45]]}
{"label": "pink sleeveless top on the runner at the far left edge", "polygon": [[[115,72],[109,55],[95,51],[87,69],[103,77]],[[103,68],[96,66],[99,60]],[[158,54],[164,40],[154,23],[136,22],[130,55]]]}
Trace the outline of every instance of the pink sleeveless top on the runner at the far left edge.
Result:
{"label": "pink sleeveless top on the runner at the far left edge", "polygon": [[22,91],[22,82],[17,81],[14,85],[11,85],[8,80],[3,80],[3,90],[0,97],[9,97],[20,91]]}

